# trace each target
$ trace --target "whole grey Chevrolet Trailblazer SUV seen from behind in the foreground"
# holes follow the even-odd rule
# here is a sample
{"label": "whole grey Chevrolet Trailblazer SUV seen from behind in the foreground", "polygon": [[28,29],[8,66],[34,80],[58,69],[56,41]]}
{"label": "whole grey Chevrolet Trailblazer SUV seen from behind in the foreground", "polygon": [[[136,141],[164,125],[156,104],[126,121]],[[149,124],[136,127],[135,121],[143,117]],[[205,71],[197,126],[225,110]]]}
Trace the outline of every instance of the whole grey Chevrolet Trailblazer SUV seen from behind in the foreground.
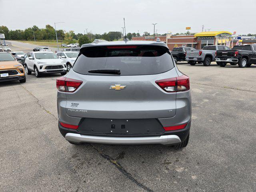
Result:
{"label": "whole grey Chevrolet Trailblazer SUV seen from behind in the foreground", "polygon": [[58,127],[71,144],[188,144],[189,78],[162,42],[84,44],[56,86]]}

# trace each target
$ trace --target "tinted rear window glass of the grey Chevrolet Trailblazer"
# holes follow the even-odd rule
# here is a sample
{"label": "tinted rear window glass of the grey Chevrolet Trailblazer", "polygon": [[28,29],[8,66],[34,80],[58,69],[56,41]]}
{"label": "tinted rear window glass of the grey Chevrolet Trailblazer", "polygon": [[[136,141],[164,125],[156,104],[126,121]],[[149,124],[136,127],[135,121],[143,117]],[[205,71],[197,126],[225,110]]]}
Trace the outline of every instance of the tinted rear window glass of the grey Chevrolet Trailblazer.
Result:
{"label": "tinted rear window glass of the grey Chevrolet Trailblazer", "polygon": [[120,69],[120,75],[159,74],[174,67],[171,54],[164,46],[99,46],[83,48],[73,70],[85,75],[89,70]]}

